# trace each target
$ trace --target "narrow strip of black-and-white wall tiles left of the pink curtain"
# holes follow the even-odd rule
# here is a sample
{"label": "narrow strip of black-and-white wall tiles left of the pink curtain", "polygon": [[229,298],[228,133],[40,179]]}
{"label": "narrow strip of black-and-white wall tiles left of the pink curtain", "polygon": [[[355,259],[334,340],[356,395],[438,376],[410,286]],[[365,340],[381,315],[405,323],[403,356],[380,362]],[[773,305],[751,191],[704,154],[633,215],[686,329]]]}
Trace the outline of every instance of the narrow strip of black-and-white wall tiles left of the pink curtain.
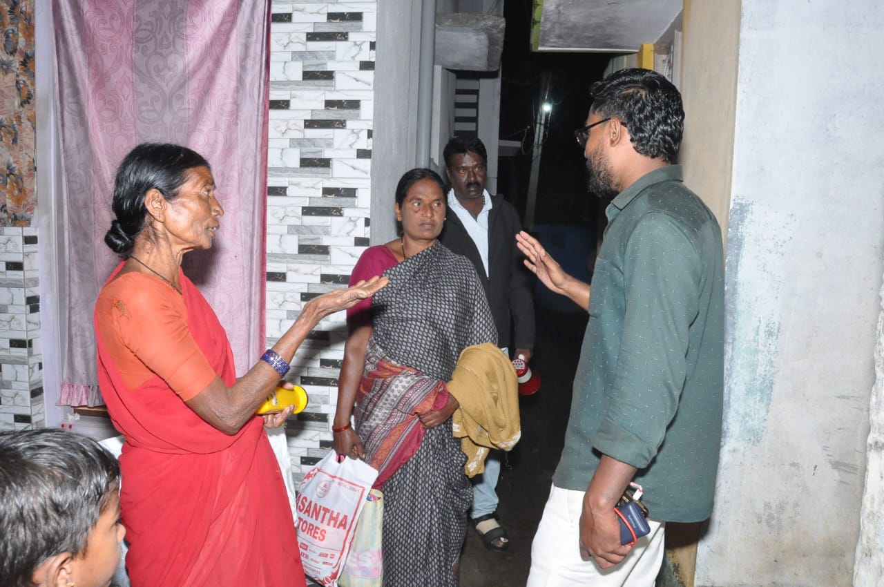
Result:
{"label": "narrow strip of black-and-white wall tiles left of the pink curtain", "polygon": [[45,424],[36,227],[0,227],[0,431]]}

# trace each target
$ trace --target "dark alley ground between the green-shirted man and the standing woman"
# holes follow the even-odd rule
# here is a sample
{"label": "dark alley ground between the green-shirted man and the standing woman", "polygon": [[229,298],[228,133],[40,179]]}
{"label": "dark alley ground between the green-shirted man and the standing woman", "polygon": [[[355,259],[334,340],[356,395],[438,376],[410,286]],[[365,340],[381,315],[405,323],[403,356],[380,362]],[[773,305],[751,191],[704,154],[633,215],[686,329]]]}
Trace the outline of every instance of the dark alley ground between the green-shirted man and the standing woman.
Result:
{"label": "dark alley ground between the green-shirted man and the standing woman", "polygon": [[522,440],[508,455],[509,467],[501,471],[497,488],[499,520],[509,533],[509,550],[485,549],[470,528],[461,558],[461,587],[513,587],[528,579],[531,539],[559,463],[585,326],[586,313],[564,298],[554,308],[537,307],[531,368],[542,377],[541,386],[521,399]]}

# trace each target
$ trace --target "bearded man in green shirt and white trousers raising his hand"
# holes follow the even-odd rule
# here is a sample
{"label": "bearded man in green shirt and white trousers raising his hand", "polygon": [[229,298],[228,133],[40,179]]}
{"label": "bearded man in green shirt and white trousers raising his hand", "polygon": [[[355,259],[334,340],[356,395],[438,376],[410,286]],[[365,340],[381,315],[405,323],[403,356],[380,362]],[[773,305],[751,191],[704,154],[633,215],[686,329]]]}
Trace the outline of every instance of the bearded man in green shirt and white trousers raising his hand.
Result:
{"label": "bearded man in green shirt and white trousers raising his hand", "polygon": [[[575,131],[590,190],[613,198],[590,286],[537,240],[531,271],[590,313],[565,446],[531,550],[529,587],[649,585],[666,522],[712,513],[721,436],[724,262],[718,222],[674,165],[684,111],[657,72],[613,72]],[[644,487],[650,533],[621,545],[617,500]]]}

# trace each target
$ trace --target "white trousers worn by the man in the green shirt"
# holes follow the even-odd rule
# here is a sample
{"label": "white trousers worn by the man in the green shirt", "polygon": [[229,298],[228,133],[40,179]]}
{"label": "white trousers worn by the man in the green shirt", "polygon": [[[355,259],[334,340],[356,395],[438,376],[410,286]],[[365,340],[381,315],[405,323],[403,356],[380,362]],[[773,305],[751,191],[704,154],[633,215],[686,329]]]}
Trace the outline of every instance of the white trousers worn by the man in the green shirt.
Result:
{"label": "white trousers worn by the man in the green shirt", "polygon": [[552,485],[543,518],[531,544],[528,587],[653,587],[663,563],[665,522],[649,519],[651,532],[638,539],[613,568],[598,568],[580,557],[580,513],[583,494]]}

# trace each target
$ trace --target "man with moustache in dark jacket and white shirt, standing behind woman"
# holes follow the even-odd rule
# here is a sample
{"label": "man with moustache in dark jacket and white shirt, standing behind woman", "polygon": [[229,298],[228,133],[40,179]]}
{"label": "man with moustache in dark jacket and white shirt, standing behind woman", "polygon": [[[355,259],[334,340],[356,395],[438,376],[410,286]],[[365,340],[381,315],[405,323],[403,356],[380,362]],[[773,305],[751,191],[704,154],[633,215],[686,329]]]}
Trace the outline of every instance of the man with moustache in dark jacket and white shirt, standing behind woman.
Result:
{"label": "man with moustache in dark jacket and white shirt, standing behind woman", "polygon": [[[454,137],[443,155],[451,189],[439,240],[476,267],[497,326],[498,346],[527,363],[534,348],[534,294],[533,278],[515,244],[522,230],[519,214],[502,195],[485,190],[487,152],[482,141]],[[499,474],[499,455],[492,452],[485,472],[476,476],[470,511],[484,545],[493,551],[505,551],[508,544],[496,516]]]}

